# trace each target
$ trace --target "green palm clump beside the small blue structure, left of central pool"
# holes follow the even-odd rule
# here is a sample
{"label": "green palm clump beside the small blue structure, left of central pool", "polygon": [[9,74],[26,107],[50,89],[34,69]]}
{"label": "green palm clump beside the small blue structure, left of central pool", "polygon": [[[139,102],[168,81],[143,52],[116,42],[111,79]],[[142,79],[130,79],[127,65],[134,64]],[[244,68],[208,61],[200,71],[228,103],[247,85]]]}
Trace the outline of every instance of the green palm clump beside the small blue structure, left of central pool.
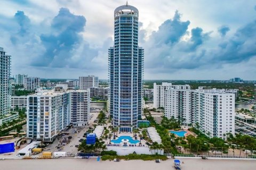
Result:
{"label": "green palm clump beside the small blue structure, left of central pool", "polygon": [[87,145],[86,140],[84,140],[78,146],[78,151],[81,151],[81,152],[84,152],[84,153],[101,152],[101,151],[107,149],[107,147],[104,143],[105,142],[100,141],[96,138],[96,142],[95,142],[94,145]]}

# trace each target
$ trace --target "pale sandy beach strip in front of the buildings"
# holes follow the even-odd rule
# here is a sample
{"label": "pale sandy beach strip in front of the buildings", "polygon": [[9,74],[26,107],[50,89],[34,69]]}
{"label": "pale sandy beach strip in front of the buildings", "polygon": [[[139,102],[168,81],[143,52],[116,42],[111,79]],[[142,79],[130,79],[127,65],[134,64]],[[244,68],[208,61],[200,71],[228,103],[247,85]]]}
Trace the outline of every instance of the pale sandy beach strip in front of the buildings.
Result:
{"label": "pale sandy beach strip in front of the buildings", "polygon": [[[183,170],[215,170],[215,169],[254,169],[256,167],[255,160],[203,160],[203,159],[180,159]],[[1,170],[34,170],[34,169],[72,169],[72,170],[131,170],[131,169],[147,169],[147,170],[167,170],[174,169],[173,159],[168,159],[159,164],[154,161],[143,160],[121,160],[121,162],[100,161],[92,159],[35,159],[35,160],[0,160]]]}

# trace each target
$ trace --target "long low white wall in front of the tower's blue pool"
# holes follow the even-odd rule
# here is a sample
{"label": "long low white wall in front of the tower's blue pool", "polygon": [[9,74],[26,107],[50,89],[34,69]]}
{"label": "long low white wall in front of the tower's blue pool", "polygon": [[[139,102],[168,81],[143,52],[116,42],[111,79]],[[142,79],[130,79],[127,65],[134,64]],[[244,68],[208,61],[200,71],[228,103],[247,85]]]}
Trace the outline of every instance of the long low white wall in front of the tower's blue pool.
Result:
{"label": "long low white wall in front of the tower's blue pool", "polygon": [[150,150],[148,147],[114,147],[108,146],[107,150],[114,150],[117,152],[117,155],[129,155],[133,154],[135,151],[136,154],[147,154],[147,155],[155,155],[155,152],[158,152],[158,155],[163,155],[163,150]]}

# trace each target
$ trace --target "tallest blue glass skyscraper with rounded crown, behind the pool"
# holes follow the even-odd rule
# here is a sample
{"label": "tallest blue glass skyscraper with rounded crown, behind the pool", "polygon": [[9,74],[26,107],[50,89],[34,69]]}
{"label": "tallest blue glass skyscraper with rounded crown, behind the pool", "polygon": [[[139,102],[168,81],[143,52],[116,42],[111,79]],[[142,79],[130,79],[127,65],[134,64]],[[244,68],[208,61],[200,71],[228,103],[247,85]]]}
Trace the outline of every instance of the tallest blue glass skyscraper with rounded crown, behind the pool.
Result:
{"label": "tallest blue glass skyscraper with rounded crown, behind the pool", "polygon": [[131,5],[116,8],[115,41],[109,52],[109,112],[121,132],[137,128],[142,112],[144,49],[138,46],[139,11]]}

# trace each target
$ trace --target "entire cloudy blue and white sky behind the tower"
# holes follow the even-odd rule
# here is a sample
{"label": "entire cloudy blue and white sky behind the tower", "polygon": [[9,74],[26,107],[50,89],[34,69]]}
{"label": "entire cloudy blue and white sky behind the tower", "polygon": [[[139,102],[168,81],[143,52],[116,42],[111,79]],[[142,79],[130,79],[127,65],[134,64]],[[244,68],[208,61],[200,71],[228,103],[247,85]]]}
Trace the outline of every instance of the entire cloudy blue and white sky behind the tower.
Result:
{"label": "entire cloudy blue and white sky behind the tower", "polygon": [[[256,80],[256,2],[145,0],[139,45],[145,79]],[[114,10],[125,1],[2,0],[0,47],[12,74],[108,78]]]}

